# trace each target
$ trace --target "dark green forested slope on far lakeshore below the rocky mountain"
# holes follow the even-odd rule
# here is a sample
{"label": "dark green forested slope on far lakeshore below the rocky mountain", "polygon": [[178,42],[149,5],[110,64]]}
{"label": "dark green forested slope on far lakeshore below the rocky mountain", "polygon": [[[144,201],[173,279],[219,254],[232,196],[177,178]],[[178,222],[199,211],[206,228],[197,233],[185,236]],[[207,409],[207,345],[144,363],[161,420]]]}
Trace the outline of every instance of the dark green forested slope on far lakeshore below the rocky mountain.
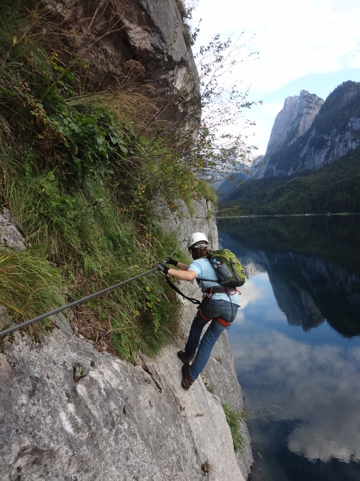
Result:
{"label": "dark green forested slope on far lakeshore below the rocky mountain", "polygon": [[243,183],[219,208],[241,214],[360,212],[360,148],[310,175],[266,177]]}

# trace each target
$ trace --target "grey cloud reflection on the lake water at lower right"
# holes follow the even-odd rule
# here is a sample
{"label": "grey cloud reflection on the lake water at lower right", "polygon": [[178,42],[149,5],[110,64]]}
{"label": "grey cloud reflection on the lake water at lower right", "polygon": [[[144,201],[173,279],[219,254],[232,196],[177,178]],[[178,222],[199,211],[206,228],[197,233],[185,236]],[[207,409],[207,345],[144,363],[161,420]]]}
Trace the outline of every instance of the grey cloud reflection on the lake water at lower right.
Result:
{"label": "grey cloud reflection on the lake water at lower right", "polygon": [[259,331],[250,342],[243,327],[236,327],[230,337],[235,366],[257,379],[264,369],[261,381],[254,385],[252,379],[252,400],[259,401],[256,415],[301,420],[287,445],[309,460],[359,461],[360,348],[346,352],[341,346],[312,346],[276,331],[266,331],[264,337]]}

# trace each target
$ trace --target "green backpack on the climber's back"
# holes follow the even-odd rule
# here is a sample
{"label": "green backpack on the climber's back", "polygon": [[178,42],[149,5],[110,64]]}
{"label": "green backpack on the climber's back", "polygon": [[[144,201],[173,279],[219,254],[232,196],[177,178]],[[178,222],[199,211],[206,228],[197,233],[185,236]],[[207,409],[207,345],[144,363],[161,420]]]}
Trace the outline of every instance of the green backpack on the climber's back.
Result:
{"label": "green backpack on the climber's back", "polygon": [[[245,270],[241,262],[229,249],[211,251],[206,256],[217,273],[219,284],[228,287],[240,287],[245,283]],[[199,280],[211,280],[202,279]]]}

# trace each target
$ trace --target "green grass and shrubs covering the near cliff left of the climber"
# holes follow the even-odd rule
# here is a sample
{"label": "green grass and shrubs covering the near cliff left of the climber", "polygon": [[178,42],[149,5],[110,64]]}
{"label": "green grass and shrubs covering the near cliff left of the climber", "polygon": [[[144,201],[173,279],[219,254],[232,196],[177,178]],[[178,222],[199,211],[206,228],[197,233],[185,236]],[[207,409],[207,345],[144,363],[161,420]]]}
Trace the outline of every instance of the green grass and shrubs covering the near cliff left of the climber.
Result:
{"label": "green grass and shrubs covering the near cliff left of the climber", "polygon": [[[177,245],[152,220],[154,199],[176,210],[206,190],[161,137],[149,91],[93,92],[87,66],[62,63],[22,5],[0,7],[0,207],[29,245],[0,250],[0,302],[16,322],[152,269]],[[177,310],[155,271],[80,304],[72,322],[132,361],[171,341]]]}

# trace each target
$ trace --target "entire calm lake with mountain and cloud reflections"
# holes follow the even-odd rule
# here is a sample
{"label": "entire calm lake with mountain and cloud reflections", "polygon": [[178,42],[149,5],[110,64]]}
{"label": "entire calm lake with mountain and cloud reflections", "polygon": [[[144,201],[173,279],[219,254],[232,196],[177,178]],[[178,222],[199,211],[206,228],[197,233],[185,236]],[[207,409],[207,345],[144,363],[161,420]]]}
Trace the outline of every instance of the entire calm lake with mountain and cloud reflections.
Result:
{"label": "entire calm lake with mountain and cloud reflections", "polygon": [[360,480],[360,216],[218,221],[248,280],[229,331],[253,481]]}

